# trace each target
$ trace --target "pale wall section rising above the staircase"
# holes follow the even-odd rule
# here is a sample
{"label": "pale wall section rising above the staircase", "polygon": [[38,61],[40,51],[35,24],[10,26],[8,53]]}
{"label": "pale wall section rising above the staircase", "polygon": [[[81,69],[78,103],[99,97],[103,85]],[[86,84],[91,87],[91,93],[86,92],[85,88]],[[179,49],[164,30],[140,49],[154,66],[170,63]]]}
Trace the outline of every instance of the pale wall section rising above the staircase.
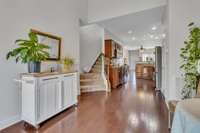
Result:
{"label": "pale wall section rising above the staircase", "polygon": [[102,53],[104,45],[104,29],[93,24],[80,29],[80,70],[89,71],[96,59]]}

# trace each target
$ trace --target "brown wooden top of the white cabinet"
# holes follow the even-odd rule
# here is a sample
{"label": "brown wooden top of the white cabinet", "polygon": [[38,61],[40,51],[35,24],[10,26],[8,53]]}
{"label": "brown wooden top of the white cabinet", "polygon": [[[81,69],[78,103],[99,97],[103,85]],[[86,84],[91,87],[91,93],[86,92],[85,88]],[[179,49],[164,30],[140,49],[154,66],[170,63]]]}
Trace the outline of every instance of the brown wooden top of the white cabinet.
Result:
{"label": "brown wooden top of the white cabinet", "polygon": [[70,74],[77,73],[77,70],[72,71],[58,71],[58,72],[41,72],[41,73],[22,73],[22,76],[31,76],[31,77],[46,77],[46,76],[54,76],[54,75],[62,75],[62,74]]}

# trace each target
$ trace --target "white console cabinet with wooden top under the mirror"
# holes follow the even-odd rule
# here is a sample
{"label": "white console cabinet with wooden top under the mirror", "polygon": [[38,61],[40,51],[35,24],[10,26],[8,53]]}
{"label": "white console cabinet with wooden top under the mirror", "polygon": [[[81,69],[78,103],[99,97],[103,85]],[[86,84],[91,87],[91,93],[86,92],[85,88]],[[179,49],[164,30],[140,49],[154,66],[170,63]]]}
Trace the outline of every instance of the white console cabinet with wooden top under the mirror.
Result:
{"label": "white console cabinet with wooden top under the mirror", "polygon": [[77,73],[24,74],[22,76],[22,120],[39,124],[78,100]]}

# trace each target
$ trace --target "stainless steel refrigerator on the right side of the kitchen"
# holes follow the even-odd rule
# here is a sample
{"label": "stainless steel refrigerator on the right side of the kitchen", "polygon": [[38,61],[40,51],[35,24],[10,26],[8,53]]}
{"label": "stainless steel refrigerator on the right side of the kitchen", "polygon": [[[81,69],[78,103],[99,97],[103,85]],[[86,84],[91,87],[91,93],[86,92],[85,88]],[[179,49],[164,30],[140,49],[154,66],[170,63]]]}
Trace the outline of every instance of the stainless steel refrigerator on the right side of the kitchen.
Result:
{"label": "stainless steel refrigerator on the right side of the kitchen", "polygon": [[162,47],[155,48],[155,76],[156,76],[156,90],[161,90],[162,87]]}

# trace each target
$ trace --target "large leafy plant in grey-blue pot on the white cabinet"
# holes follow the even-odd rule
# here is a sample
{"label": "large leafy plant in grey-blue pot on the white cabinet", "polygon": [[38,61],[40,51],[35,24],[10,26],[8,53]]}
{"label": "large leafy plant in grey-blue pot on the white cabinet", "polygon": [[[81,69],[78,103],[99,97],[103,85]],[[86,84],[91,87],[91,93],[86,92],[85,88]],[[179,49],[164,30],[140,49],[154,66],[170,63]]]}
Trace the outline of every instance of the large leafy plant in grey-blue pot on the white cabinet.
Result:
{"label": "large leafy plant in grey-blue pot on the white cabinet", "polygon": [[49,58],[49,53],[46,51],[49,46],[38,42],[38,37],[35,33],[29,32],[29,40],[19,39],[15,41],[18,48],[7,53],[7,60],[14,57],[16,62],[28,63],[28,72],[40,72],[41,61]]}

